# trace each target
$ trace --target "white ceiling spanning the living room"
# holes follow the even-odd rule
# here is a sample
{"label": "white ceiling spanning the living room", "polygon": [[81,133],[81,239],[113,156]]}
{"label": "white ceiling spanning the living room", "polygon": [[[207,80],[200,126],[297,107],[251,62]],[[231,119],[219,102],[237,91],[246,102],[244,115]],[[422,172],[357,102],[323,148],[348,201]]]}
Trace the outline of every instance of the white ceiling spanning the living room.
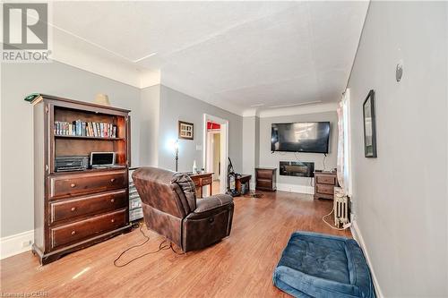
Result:
{"label": "white ceiling spanning the living room", "polygon": [[367,2],[56,2],[54,38],[241,114],[334,102]]}

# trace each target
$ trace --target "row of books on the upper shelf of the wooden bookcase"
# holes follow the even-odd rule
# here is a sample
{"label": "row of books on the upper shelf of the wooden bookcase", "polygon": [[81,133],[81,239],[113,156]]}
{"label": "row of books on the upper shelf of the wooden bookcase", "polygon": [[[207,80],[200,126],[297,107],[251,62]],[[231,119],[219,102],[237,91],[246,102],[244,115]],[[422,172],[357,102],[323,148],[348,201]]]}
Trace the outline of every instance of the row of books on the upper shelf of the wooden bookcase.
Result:
{"label": "row of books on the upper shelf of the wooden bookcase", "polygon": [[113,123],[83,122],[81,120],[73,121],[73,123],[56,121],[55,134],[116,138],[116,125]]}

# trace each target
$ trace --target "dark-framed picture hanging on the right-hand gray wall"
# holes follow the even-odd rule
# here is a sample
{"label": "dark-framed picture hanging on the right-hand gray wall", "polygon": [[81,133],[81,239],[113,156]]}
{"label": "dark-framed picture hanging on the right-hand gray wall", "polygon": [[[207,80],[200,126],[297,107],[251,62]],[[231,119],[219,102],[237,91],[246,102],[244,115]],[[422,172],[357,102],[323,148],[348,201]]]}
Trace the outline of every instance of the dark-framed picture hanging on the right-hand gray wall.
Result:
{"label": "dark-framed picture hanging on the right-hand gray wall", "polygon": [[376,158],[375,130],[375,90],[368,92],[363,104],[364,115],[364,154],[366,158]]}

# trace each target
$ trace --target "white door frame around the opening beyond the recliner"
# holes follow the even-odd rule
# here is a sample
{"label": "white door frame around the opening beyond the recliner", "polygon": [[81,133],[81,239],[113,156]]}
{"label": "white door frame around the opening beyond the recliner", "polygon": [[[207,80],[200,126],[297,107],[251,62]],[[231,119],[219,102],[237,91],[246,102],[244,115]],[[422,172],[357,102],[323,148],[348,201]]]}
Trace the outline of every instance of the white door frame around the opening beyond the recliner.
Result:
{"label": "white door frame around the opening beyond the recliner", "polygon": [[225,193],[227,189],[227,166],[228,166],[228,120],[222,119],[215,115],[204,114],[203,115],[203,150],[202,150],[202,165],[205,171],[210,171],[210,165],[207,162],[207,150],[208,145],[208,133],[207,122],[214,122],[220,124],[220,193]]}

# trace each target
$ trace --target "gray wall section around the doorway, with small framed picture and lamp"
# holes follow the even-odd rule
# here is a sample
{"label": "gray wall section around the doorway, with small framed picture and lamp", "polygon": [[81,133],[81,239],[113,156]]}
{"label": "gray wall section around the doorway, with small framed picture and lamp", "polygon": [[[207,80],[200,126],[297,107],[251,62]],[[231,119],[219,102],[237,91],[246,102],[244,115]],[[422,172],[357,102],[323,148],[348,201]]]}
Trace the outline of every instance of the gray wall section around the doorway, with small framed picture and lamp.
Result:
{"label": "gray wall section around the doorway, with small framed picture and lamp", "polygon": [[[203,142],[203,114],[228,120],[228,157],[237,172],[242,170],[243,117],[229,113],[202,100],[189,97],[161,85],[159,114],[159,166],[175,168],[174,150],[169,146],[177,139],[177,121],[194,123],[194,140],[179,140],[179,171],[191,171],[193,161],[201,168]],[[196,145],[202,149],[196,149]]]}

